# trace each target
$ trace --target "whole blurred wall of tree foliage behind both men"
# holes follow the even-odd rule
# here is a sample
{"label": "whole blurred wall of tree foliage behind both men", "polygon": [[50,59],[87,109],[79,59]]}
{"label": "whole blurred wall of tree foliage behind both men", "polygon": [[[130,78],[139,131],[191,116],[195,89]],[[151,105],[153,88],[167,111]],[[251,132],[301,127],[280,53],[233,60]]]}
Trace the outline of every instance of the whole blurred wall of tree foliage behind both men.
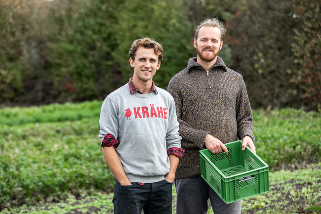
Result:
{"label": "whole blurred wall of tree foliage behind both men", "polygon": [[213,16],[253,108],[321,108],[320,0],[0,0],[0,102],[104,99],[132,76],[128,49],[142,37],[163,45],[153,80],[166,88]]}

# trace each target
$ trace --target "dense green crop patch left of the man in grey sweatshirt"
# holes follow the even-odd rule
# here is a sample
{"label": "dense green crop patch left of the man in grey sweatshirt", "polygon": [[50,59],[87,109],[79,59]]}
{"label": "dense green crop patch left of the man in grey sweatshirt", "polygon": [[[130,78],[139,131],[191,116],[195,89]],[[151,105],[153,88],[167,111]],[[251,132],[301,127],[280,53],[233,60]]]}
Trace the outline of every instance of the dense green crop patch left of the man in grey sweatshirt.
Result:
{"label": "dense green crop patch left of the man in grey sweatshirt", "polygon": [[[11,114],[1,109],[1,118],[6,114],[22,125],[0,125],[0,207],[112,191],[116,180],[98,138],[100,107],[94,101],[12,108]],[[34,116],[40,121],[29,120]]]}

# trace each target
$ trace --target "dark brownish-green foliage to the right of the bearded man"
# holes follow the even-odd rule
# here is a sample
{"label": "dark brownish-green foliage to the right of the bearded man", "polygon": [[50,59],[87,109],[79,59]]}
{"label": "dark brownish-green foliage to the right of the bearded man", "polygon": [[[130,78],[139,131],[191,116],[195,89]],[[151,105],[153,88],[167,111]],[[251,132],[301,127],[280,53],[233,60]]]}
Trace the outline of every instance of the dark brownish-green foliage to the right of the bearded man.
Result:
{"label": "dark brownish-green foliage to the right of the bearded man", "polygon": [[243,75],[254,108],[317,110],[319,11],[319,0],[247,0],[229,21],[233,68]]}

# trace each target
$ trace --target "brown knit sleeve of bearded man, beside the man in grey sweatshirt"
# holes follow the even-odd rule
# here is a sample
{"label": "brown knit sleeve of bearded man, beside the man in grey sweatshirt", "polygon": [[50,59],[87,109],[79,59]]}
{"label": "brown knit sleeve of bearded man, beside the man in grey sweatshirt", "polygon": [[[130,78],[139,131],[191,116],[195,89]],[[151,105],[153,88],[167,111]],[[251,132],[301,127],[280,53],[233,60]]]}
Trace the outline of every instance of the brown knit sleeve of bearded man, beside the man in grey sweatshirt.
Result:
{"label": "brown knit sleeve of bearded man, beside the man in grey sweatshirt", "polygon": [[179,133],[182,139],[184,139],[182,140],[182,147],[204,149],[205,137],[207,134],[209,134],[209,132],[192,128],[190,124],[182,120],[182,89],[181,85],[175,80],[175,77],[173,77],[169,82],[167,91],[175,100],[177,121],[179,123]]}

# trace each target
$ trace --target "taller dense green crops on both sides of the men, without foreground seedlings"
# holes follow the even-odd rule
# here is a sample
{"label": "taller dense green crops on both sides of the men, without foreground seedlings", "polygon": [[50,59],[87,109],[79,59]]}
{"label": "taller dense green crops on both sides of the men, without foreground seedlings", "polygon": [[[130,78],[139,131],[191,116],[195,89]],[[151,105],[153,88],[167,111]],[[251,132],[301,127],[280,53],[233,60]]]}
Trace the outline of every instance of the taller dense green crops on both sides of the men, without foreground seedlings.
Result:
{"label": "taller dense green crops on both sides of the men, without foreground seedlings", "polygon": [[[111,192],[100,148],[101,101],[0,109],[0,208]],[[321,115],[253,111],[257,154],[270,170],[321,162]],[[8,204],[10,203],[10,204]]]}

